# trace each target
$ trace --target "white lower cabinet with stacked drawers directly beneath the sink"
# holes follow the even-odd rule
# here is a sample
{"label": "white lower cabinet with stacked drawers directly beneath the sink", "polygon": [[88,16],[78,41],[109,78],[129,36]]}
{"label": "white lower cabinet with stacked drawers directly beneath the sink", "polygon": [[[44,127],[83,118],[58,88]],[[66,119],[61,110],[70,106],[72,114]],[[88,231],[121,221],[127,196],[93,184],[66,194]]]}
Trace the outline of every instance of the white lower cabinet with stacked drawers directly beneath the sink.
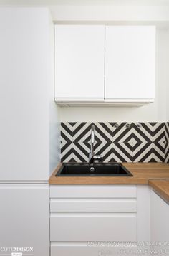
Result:
{"label": "white lower cabinet with stacked drawers directly beneath the sink", "polygon": [[135,185],[51,185],[51,256],[137,255]]}

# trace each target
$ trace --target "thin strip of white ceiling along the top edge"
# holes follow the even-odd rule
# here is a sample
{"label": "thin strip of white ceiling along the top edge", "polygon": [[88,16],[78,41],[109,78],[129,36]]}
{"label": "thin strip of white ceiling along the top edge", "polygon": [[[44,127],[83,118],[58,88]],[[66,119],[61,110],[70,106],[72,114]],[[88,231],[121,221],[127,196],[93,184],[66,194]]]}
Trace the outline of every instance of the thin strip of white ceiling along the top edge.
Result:
{"label": "thin strip of white ceiling along the top edge", "polygon": [[169,0],[0,0],[0,5],[115,5],[115,6],[169,6]]}

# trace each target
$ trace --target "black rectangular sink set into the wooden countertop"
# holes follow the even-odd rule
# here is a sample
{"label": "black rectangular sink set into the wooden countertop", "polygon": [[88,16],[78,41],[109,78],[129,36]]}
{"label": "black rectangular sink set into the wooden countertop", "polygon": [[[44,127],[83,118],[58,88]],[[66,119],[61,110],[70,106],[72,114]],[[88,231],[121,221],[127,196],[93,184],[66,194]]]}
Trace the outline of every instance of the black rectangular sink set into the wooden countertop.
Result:
{"label": "black rectangular sink set into the wooden countertop", "polygon": [[121,163],[62,163],[56,176],[132,176]]}

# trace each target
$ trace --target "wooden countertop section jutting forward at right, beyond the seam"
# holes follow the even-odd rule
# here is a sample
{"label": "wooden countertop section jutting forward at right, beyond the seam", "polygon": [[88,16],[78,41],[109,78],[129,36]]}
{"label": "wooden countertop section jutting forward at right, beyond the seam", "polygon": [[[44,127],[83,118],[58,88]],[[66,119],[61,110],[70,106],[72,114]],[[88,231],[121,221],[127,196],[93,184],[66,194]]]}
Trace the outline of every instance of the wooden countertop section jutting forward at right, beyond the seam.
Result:
{"label": "wooden countertop section jutting forward at right, beyond the seam", "polygon": [[148,181],[148,184],[169,203],[169,180],[153,180]]}

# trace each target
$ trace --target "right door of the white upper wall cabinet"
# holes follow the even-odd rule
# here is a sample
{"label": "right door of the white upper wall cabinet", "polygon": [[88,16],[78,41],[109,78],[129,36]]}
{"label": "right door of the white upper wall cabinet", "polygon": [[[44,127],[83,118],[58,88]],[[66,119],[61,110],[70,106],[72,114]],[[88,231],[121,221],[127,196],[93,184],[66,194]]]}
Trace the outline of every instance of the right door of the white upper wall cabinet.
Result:
{"label": "right door of the white upper wall cabinet", "polygon": [[108,26],[105,42],[105,98],[153,101],[155,27]]}

